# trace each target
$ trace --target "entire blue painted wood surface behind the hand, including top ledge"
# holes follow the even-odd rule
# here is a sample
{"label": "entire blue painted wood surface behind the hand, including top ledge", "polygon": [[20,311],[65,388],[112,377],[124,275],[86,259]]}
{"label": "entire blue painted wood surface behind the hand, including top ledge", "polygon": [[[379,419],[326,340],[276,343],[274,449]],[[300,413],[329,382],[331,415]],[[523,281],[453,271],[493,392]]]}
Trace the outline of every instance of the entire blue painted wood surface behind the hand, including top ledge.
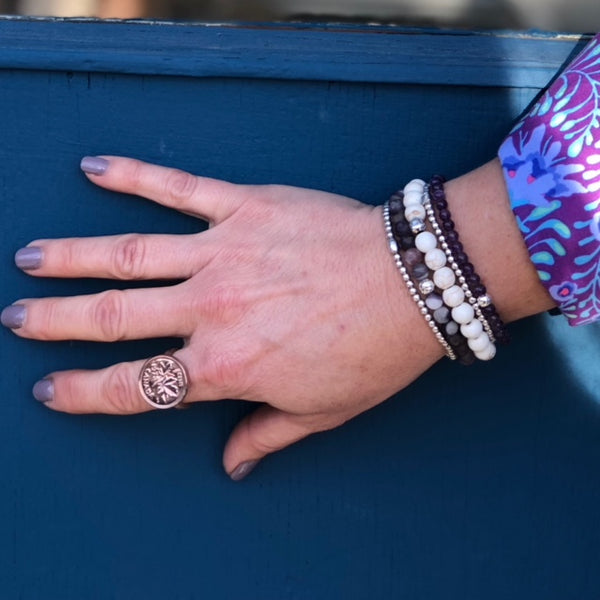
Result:
{"label": "entire blue painted wood surface behind the hand, including top ledge", "polygon": [[[218,33],[228,42],[215,45]],[[348,81],[354,55],[335,54],[328,36],[354,36],[365,73],[388,36],[276,34],[0,22],[2,305],[106,287],[20,273],[12,253],[36,237],[198,227],[93,188],[78,170],[84,154],[379,203],[416,174],[453,176],[493,156],[537,93],[537,66],[530,78],[511,58],[521,52],[518,35],[428,33],[445,57],[446,83],[463,81],[454,68],[475,73],[469,65],[481,66],[494,40],[505,68],[523,69],[497,86],[463,87],[417,84],[416,70],[396,72],[411,67],[394,63],[391,50],[394,69],[374,61],[373,81]],[[295,55],[286,71],[288,35]],[[421,42],[412,38],[414,50]],[[280,51],[271,54],[265,44],[274,39]],[[535,55],[557,48],[552,56],[574,42],[527,43]],[[178,72],[186,63],[190,71]],[[507,87],[517,80],[526,85]],[[220,454],[244,403],[117,418],[53,414],[30,398],[50,370],[148,356],[169,342],[44,344],[0,331],[1,597],[595,600],[600,331],[567,331],[542,316],[512,332],[493,364],[440,363],[383,406],[234,484]]]}

